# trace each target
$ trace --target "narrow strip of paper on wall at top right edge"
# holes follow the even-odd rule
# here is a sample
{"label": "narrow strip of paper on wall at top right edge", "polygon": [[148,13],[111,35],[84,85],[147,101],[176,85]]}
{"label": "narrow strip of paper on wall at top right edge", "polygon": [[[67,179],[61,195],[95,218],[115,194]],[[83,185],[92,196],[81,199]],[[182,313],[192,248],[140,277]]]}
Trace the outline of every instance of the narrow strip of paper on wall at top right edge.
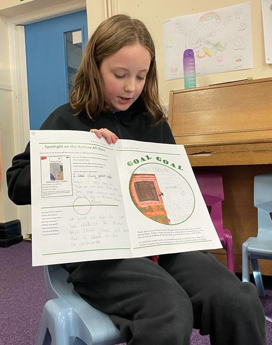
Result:
{"label": "narrow strip of paper on wall at top right edge", "polygon": [[262,0],[265,61],[272,63],[272,0]]}

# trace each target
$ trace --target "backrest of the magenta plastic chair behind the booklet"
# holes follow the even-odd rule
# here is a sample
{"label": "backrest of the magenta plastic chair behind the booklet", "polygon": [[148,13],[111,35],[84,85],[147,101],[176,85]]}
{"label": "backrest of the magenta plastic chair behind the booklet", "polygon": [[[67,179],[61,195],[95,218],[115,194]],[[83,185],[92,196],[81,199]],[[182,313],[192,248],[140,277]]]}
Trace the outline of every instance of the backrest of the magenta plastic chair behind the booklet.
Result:
{"label": "backrest of the magenta plastic chair behind the booklet", "polygon": [[211,207],[210,216],[219,238],[223,238],[222,201],[224,200],[222,174],[217,171],[194,169],[206,206]]}

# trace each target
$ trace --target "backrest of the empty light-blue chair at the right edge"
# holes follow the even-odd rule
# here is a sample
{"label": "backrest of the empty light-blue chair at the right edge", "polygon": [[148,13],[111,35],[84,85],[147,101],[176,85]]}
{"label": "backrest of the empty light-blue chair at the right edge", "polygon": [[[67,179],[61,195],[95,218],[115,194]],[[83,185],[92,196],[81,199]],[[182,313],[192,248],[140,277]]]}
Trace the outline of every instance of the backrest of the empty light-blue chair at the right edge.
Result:
{"label": "backrest of the empty light-blue chair at the right edge", "polygon": [[272,173],[254,177],[254,206],[258,210],[258,237],[272,239]]}

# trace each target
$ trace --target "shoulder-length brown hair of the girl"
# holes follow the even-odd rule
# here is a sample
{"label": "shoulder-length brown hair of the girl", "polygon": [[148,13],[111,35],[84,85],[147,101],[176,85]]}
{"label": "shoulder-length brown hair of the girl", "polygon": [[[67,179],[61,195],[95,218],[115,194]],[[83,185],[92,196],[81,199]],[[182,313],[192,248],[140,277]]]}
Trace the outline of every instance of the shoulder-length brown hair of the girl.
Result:
{"label": "shoulder-length brown hair of the girl", "polygon": [[79,114],[86,111],[92,118],[105,109],[99,68],[103,58],[118,52],[129,44],[140,43],[151,57],[150,68],[139,98],[153,115],[155,123],[164,117],[164,108],[158,96],[158,76],[153,39],[145,24],[126,15],[104,20],[86,44],[82,62],[70,92],[70,104]]}

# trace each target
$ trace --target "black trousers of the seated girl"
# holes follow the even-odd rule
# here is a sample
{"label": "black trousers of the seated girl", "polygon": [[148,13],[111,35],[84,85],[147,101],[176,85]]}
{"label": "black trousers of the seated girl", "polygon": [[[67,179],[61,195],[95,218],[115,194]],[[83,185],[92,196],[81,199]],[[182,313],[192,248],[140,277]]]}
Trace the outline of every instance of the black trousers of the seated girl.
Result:
{"label": "black trousers of the seated girl", "polygon": [[265,345],[255,286],[241,283],[212,254],[67,264],[68,281],[109,314],[128,345],[189,345],[192,328],[212,345]]}

